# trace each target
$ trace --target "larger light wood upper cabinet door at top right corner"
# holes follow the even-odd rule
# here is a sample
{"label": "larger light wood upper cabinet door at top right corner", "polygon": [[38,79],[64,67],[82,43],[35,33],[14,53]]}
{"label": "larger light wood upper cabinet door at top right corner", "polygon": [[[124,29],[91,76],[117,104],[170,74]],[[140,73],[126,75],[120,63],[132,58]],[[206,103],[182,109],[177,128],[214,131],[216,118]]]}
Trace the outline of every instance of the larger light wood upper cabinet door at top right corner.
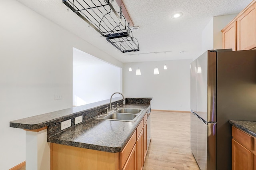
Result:
{"label": "larger light wood upper cabinet door at top right corner", "polygon": [[256,47],[256,4],[248,8],[237,20],[238,50]]}

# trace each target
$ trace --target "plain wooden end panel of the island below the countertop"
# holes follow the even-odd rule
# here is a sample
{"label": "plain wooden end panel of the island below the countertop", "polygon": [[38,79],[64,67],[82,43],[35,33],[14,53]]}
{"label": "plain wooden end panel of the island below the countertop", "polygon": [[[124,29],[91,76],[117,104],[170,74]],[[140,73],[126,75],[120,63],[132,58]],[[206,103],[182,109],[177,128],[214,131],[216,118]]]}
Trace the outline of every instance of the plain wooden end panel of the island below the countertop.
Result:
{"label": "plain wooden end panel of the island below the countertop", "polygon": [[51,170],[118,170],[119,153],[51,143]]}

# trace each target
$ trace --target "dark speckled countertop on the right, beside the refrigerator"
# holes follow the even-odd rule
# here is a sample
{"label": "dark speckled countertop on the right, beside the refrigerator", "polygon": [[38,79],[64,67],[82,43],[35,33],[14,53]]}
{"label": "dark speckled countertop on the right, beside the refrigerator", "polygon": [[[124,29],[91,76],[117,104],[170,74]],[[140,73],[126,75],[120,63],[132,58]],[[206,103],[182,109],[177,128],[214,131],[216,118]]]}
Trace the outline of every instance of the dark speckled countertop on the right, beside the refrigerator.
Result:
{"label": "dark speckled countertop on the right, beside the refrigerator", "polygon": [[230,120],[229,123],[243,130],[244,132],[256,137],[256,122]]}

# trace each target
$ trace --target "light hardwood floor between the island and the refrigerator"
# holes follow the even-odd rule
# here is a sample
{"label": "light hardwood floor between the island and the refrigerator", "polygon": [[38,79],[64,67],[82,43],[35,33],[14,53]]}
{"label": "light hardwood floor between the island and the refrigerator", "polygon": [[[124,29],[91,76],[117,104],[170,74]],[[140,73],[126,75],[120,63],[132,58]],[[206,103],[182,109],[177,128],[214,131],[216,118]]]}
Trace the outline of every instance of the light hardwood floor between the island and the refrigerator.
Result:
{"label": "light hardwood floor between the island and the refrigerator", "polygon": [[199,170],[190,150],[190,113],[151,112],[151,142],[143,170]]}

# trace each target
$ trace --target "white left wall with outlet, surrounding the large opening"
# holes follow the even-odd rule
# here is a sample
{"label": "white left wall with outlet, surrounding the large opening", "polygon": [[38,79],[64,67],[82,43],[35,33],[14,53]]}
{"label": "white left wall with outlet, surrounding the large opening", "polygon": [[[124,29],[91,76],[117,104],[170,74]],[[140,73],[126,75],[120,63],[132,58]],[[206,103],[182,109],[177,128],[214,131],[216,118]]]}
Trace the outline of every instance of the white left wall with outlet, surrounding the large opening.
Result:
{"label": "white left wall with outlet, surrounding the large opening", "polygon": [[72,107],[73,47],[122,63],[15,0],[1,1],[0,16],[0,166],[6,170],[25,160],[25,131],[10,128],[10,121]]}

